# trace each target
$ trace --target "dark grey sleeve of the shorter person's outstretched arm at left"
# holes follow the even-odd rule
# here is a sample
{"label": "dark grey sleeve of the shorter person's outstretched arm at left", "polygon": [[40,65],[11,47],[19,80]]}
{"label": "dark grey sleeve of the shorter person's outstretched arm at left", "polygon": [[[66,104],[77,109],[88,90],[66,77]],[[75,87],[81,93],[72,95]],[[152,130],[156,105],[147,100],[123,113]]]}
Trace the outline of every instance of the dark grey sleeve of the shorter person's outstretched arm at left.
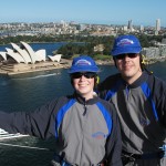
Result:
{"label": "dark grey sleeve of the shorter person's outstretched arm at left", "polygon": [[54,100],[34,112],[0,112],[0,127],[9,133],[21,133],[40,138],[49,138],[54,134],[54,111],[58,100]]}

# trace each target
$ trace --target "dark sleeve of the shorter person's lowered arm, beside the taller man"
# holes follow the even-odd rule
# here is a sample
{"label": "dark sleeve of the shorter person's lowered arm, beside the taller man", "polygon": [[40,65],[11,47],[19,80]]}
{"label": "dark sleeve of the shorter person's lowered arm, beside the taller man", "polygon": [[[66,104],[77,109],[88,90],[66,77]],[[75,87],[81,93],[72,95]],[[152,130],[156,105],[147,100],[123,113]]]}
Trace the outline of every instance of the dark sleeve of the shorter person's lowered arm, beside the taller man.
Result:
{"label": "dark sleeve of the shorter person's lowered arm, beside the taller man", "polygon": [[122,166],[122,138],[118,116],[113,108],[113,129],[106,142],[106,160],[108,166]]}

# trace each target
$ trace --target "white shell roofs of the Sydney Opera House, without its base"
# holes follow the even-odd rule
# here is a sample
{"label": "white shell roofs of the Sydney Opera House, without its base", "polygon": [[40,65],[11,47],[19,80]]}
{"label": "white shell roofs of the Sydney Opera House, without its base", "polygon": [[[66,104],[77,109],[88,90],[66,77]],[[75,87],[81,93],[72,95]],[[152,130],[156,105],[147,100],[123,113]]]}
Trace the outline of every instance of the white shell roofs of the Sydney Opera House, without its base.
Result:
{"label": "white shell roofs of the Sydney Opera House, without its base", "polygon": [[34,64],[35,62],[44,62],[46,58],[50,61],[60,62],[62,54],[48,55],[44,49],[33,51],[33,49],[25,42],[20,42],[20,45],[11,43],[12,49],[6,48],[7,52],[0,52],[0,61],[8,61],[13,59],[17,63]]}

